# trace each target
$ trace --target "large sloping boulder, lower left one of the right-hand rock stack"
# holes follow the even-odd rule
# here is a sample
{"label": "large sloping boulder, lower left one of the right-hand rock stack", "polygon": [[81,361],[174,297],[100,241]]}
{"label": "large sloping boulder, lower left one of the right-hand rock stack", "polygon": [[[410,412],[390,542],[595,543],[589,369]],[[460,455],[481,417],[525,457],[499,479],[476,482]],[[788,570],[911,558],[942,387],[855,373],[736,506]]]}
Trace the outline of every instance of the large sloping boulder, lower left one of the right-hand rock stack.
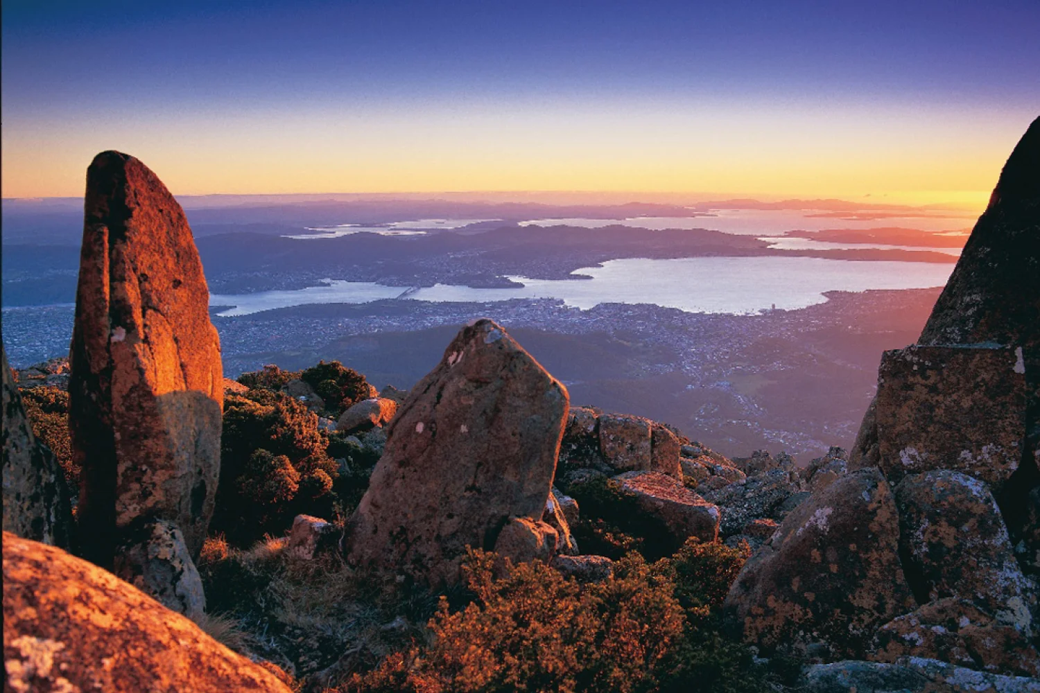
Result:
{"label": "large sloping boulder, lower left one of the right-hand rock stack", "polygon": [[796,508],[730,588],[747,642],[823,644],[861,657],[875,631],[915,603],[899,559],[899,517],[878,470],[841,477]]}

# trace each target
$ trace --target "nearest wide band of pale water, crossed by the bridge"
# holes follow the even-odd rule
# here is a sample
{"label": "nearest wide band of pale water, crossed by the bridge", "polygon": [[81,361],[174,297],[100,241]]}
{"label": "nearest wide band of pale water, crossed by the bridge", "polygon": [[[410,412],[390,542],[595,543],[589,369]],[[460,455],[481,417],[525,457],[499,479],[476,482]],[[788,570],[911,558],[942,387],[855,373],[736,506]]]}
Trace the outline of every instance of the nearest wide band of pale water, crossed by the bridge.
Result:
{"label": "nearest wide band of pale water, crossed by the bridge", "polygon": [[510,277],[523,287],[472,289],[438,284],[428,288],[386,287],[370,282],[327,279],[295,291],[210,296],[212,305],[232,305],[220,316],[241,316],[311,303],[401,300],[485,302],[555,298],[581,310],[599,303],[653,303],[690,313],[758,313],[794,310],[826,300],[827,291],[940,287],[953,264],[858,262],[820,258],[682,258],[612,260],[575,274],[590,279]]}

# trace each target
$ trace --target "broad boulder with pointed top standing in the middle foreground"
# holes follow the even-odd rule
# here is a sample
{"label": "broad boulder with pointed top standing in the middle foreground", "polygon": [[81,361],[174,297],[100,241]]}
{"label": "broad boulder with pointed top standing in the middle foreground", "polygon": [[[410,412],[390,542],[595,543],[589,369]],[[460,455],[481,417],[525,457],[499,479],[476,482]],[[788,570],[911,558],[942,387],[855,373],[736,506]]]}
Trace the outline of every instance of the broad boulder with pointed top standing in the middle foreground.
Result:
{"label": "broad boulder with pointed top standing in the middle foreground", "polygon": [[493,549],[511,518],[541,521],[567,412],[567,390],[504,329],[463,328],[386,429],[349,560],[458,583],[467,545]]}

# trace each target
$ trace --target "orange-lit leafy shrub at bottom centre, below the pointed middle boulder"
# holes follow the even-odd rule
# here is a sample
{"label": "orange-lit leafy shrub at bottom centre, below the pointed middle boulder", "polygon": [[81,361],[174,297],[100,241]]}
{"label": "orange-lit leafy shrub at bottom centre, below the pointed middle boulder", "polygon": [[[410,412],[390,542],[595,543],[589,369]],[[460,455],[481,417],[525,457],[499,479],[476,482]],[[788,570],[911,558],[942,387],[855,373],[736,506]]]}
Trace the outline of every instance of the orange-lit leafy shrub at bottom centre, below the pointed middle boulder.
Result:
{"label": "orange-lit leafy shrub at bottom centre, below the pointed middle boulder", "polygon": [[474,598],[430,622],[433,642],[389,658],[342,691],[416,693],[653,690],[682,633],[682,609],[667,577],[638,554],[604,583],[580,585],[543,563],[494,577],[494,554],[470,552]]}

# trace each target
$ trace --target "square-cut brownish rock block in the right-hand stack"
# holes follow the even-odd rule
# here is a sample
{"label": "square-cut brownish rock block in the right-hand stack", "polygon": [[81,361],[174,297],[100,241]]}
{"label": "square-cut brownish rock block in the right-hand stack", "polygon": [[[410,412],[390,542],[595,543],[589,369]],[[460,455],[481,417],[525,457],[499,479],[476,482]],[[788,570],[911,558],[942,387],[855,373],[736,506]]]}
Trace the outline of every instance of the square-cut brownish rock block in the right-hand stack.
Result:
{"label": "square-cut brownish rock block in the right-hand stack", "polygon": [[886,351],[876,411],[882,471],[898,481],[957,470],[999,490],[1022,458],[1025,397],[1020,347]]}

